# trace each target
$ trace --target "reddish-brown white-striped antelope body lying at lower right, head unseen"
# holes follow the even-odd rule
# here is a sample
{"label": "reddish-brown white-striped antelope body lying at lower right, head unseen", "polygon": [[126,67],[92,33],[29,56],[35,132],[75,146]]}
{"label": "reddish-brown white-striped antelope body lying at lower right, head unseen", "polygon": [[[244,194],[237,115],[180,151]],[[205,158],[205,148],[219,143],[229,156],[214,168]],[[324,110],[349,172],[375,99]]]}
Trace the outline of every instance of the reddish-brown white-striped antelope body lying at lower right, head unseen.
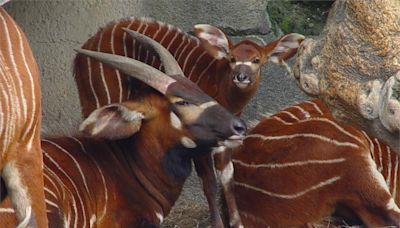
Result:
{"label": "reddish-brown white-striped antelope body lying at lower right, head unseen", "polygon": [[320,100],[263,119],[232,162],[222,179],[245,227],[307,226],[335,209],[368,227],[400,227],[399,154],[334,122]]}

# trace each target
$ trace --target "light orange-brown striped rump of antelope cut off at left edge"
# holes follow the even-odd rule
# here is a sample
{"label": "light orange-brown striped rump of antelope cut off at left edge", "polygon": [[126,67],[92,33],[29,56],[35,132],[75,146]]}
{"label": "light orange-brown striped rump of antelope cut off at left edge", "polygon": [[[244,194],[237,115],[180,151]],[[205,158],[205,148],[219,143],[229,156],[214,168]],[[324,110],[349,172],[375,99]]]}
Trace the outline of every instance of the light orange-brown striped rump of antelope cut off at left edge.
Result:
{"label": "light orange-brown striped rump of antelope cut off at left edge", "polygon": [[40,115],[39,70],[28,41],[0,7],[0,153],[32,143]]}

